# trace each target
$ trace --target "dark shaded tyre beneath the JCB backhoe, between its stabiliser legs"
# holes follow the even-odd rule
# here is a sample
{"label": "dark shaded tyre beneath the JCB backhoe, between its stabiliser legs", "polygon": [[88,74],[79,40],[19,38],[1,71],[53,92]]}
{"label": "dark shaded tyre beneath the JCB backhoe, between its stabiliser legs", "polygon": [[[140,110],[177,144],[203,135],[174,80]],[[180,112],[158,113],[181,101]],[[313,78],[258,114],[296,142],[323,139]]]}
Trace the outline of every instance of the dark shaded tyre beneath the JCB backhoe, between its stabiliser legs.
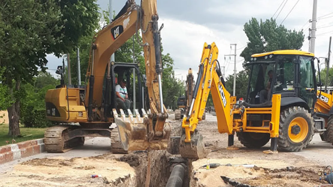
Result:
{"label": "dark shaded tyre beneath the JCB backhoe, between its stabiliser legs", "polygon": [[238,140],[247,148],[260,148],[269,141],[268,133],[236,133]]}

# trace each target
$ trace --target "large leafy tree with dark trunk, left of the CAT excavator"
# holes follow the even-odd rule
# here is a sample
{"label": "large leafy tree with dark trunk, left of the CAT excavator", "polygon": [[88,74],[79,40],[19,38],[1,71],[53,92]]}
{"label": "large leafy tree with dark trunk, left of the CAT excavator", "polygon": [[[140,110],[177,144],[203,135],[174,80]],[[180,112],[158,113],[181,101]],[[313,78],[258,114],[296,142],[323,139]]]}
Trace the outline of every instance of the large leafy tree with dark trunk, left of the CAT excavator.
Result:
{"label": "large leafy tree with dark trunk, left of the CAT excavator", "polygon": [[0,0],[1,77],[8,87],[12,105],[8,107],[9,135],[20,135],[22,83],[32,82],[38,66],[45,70],[46,54],[72,50],[82,35],[94,30],[98,6],[94,0]]}

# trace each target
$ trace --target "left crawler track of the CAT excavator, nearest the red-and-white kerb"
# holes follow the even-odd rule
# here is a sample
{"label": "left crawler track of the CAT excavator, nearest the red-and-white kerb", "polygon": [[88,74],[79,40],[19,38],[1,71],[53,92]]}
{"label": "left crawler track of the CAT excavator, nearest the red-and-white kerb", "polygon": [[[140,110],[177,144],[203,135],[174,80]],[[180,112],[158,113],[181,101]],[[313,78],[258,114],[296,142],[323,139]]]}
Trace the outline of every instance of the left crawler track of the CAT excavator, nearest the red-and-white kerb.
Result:
{"label": "left crawler track of the CAT excavator, nearest the red-and-white kerb", "polygon": [[84,137],[69,139],[68,126],[50,127],[45,131],[44,144],[47,152],[63,153],[73,149],[75,146],[84,144]]}

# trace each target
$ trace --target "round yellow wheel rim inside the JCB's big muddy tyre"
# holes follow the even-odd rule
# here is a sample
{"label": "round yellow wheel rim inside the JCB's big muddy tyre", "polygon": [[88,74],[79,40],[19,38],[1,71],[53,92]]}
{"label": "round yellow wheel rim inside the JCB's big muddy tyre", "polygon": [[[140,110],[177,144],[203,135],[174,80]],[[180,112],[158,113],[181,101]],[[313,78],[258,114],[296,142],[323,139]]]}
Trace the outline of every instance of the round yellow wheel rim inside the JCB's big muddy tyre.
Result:
{"label": "round yellow wheel rim inside the JCB's big muddy tyre", "polygon": [[288,127],[289,139],[295,143],[303,141],[309,132],[308,122],[302,118],[294,118]]}

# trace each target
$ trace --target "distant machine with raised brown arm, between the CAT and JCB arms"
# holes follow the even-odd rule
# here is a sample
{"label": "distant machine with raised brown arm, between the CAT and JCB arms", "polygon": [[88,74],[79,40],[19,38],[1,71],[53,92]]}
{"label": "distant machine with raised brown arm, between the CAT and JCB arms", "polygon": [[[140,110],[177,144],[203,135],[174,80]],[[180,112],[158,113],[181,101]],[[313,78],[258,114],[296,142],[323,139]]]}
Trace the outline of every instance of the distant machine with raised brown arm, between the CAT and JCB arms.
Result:
{"label": "distant machine with raised brown arm, between the CAT and JCB arms", "polygon": [[[191,105],[193,90],[195,86],[192,68],[188,69],[185,83],[185,95],[179,96],[177,99],[178,110],[176,110],[174,113],[175,120],[183,119],[184,115],[186,115],[186,112],[189,110],[189,107]],[[204,120],[205,118],[206,112],[203,113],[201,119]]]}

